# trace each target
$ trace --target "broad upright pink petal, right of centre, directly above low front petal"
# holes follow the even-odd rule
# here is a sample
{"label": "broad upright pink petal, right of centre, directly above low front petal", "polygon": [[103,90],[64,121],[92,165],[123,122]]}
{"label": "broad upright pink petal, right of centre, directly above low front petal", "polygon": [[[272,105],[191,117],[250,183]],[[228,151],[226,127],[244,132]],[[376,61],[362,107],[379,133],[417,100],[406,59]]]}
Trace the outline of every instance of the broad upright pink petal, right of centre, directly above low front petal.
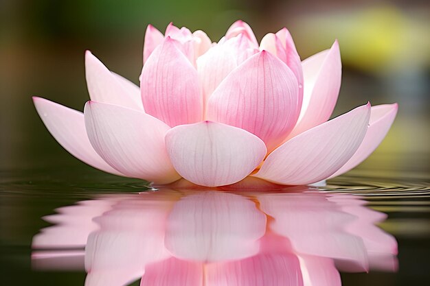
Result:
{"label": "broad upright pink petal, right of centre, directly above low front petal", "polygon": [[256,134],[270,152],[293,129],[300,102],[295,75],[271,53],[261,51],[216,88],[207,119]]}

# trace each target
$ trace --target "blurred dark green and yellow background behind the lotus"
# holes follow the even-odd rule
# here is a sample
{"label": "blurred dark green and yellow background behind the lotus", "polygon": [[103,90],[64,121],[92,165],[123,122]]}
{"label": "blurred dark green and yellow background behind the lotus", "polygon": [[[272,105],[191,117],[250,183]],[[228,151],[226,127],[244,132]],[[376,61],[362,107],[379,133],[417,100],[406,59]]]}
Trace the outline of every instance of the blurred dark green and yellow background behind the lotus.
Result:
{"label": "blurred dark green and yellow background behind the lotus", "polygon": [[[86,49],[137,83],[148,23],[163,31],[173,21],[217,41],[243,19],[259,40],[288,27],[302,59],[338,38],[343,83],[334,116],[367,100],[398,102],[394,127],[369,162],[407,169],[429,154],[429,14],[428,1],[2,0],[0,167],[75,164],[45,130],[31,96],[82,110]],[[420,164],[427,169],[428,161]]]}

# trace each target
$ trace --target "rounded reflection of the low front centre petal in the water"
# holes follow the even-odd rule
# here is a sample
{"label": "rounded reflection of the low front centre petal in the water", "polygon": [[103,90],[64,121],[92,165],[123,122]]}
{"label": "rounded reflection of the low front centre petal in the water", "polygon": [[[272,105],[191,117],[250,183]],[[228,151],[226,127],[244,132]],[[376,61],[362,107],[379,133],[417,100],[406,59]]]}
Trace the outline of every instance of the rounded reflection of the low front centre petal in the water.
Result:
{"label": "rounded reflection of the low front centre petal in the water", "polygon": [[227,261],[257,254],[266,216],[256,204],[232,193],[201,191],[174,204],[165,245],[188,261]]}

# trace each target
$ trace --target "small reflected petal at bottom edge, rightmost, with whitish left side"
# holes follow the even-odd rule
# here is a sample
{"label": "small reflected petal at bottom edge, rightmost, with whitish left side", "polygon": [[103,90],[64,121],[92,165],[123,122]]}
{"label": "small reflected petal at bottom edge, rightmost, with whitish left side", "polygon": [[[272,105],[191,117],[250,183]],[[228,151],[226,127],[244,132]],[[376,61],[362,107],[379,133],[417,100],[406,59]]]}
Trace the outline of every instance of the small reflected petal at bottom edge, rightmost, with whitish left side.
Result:
{"label": "small reflected petal at bottom edge, rightmost, with whitish left side", "polygon": [[341,276],[332,259],[300,255],[304,286],[341,286]]}

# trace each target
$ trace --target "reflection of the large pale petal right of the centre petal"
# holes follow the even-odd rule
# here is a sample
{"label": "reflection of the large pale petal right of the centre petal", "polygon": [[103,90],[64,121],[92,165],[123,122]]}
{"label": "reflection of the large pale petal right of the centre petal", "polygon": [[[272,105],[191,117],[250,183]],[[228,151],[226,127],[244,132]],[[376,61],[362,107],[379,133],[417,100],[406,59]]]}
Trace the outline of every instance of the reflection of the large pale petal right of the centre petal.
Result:
{"label": "reflection of the large pale petal right of the centre petal", "polygon": [[351,261],[368,269],[367,251],[360,237],[343,230],[354,216],[340,211],[317,193],[258,195],[260,208],[275,219],[269,228],[288,238],[299,254]]}

